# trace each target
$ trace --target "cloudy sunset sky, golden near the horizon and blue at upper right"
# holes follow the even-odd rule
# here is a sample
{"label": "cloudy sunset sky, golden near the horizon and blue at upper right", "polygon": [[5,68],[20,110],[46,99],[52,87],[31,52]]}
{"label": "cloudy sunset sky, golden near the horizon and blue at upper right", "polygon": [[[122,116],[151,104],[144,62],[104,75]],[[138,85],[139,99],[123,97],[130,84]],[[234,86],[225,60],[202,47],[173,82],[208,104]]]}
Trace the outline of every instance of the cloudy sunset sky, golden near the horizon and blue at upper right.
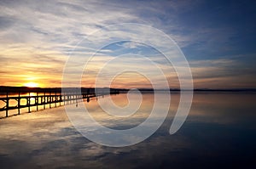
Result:
{"label": "cloudy sunset sky, golden near the horizon and blue at upper right", "polygon": [[61,87],[66,72],[71,87],[165,87],[160,69],[179,87],[160,47],[185,57],[195,88],[255,88],[255,19],[255,1],[1,0],[0,86]]}

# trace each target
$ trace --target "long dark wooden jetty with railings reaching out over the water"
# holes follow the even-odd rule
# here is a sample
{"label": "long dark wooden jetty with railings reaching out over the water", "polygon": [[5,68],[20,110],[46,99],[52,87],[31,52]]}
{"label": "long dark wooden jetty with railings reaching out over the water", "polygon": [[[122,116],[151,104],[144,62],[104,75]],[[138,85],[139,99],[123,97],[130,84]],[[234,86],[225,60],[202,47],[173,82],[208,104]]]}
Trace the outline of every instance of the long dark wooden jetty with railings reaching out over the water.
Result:
{"label": "long dark wooden jetty with railings reaching out over the water", "polygon": [[[71,90],[72,91],[72,90]],[[90,101],[90,98],[95,98],[107,94],[117,94],[119,91],[116,90],[110,90],[110,93],[95,93],[94,90],[91,91],[89,89],[86,90],[86,92],[81,93],[61,93],[61,90],[55,90],[55,92],[51,89],[46,91],[29,91],[24,96],[23,94],[16,93],[15,95],[9,94],[9,92],[5,93],[5,95],[2,95],[3,97],[0,97],[0,101],[2,101],[5,105],[0,108],[1,111],[5,111],[5,117],[9,116],[9,110],[18,110],[16,115],[20,115],[20,109],[27,108],[27,112],[31,113],[31,107],[36,107],[38,110],[38,106],[43,105],[44,110],[46,109],[47,104],[49,104],[49,109],[52,107],[61,106],[64,104],[78,104],[79,102],[83,101]],[[22,100],[22,101],[21,101]],[[15,105],[10,105],[10,102],[14,102]],[[54,106],[52,106],[54,104]]]}

